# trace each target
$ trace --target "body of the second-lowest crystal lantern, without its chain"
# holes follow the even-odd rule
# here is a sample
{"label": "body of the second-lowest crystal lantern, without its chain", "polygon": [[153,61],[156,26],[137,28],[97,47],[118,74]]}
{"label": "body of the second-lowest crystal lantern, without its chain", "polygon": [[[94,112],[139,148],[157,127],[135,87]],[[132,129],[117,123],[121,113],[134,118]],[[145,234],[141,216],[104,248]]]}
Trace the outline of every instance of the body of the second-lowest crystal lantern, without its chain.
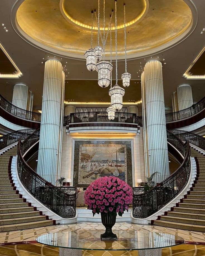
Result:
{"label": "body of the second-lowest crystal lantern, without its chain", "polygon": [[116,84],[109,89],[109,95],[111,96],[111,106],[113,107],[113,109],[116,111],[122,109],[125,89]]}

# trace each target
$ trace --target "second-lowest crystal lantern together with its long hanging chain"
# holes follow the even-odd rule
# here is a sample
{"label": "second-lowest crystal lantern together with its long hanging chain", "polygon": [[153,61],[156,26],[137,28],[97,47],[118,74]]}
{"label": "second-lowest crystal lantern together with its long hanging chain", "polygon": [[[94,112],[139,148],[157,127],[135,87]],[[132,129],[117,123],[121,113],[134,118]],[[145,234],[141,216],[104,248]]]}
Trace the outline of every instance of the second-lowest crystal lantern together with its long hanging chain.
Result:
{"label": "second-lowest crystal lantern together with its long hanging chain", "polygon": [[117,53],[117,1],[115,1],[115,50],[116,50],[116,85],[109,89],[111,96],[111,106],[114,110],[120,110],[123,107],[123,96],[125,89],[118,85],[118,53]]}

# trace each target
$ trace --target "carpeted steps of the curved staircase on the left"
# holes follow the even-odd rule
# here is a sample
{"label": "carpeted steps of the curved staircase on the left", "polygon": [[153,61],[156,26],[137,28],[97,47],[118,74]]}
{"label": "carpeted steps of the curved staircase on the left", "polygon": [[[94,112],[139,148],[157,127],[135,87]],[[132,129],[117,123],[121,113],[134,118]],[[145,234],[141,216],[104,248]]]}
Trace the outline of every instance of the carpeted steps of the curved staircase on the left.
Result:
{"label": "carpeted steps of the curved staircase on the left", "polygon": [[16,154],[15,146],[0,155],[0,232],[55,225],[55,220],[49,220],[16,190],[11,177],[11,160]]}

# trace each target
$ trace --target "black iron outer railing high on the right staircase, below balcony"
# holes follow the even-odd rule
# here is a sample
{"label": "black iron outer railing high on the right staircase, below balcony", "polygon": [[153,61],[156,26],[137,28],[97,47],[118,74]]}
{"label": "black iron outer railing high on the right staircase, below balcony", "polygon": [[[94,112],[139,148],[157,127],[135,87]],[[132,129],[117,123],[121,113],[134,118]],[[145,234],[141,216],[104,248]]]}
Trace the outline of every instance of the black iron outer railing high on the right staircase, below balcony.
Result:
{"label": "black iron outer railing high on the right staircase, below balcony", "polygon": [[205,150],[205,138],[201,137],[195,133],[182,131],[182,130],[170,130],[175,136],[180,138],[180,140],[186,141],[189,140],[189,143],[199,147],[200,149]]}

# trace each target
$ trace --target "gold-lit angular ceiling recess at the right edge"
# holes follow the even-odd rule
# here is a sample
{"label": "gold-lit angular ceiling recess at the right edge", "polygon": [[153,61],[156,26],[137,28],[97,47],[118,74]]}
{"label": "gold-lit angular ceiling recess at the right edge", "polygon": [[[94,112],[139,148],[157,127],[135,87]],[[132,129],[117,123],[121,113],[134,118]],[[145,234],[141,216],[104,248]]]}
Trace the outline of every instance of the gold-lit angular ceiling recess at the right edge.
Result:
{"label": "gold-lit angular ceiling recess at the right edge", "polygon": [[[205,79],[204,57],[205,57],[205,46],[197,55],[197,57],[192,61],[191,65],[183,74],[183,76],[186,79]],[[204,68],[203,74],[197,74],[197,72],[198,73],[202,72],[201,68]]]}

